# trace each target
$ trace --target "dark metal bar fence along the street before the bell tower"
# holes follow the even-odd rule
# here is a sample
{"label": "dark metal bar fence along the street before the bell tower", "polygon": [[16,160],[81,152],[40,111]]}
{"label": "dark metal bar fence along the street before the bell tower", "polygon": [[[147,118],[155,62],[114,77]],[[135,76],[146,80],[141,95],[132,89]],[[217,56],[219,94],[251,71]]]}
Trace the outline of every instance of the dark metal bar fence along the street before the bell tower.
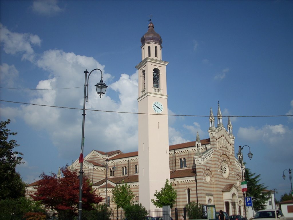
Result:
{"label": "dark metal bar fence along the street before the bell tower", "polygon": [[[188,220],[186,216],[186,208],[173,208],[173,209],[150,209],[148,211],[149,218],[146,220]],[[164,216],[164,218],[163,218]],[[153,217],[154,219],[150,218]],[[124,220],[124,210],[113,210],[111,220]]]}

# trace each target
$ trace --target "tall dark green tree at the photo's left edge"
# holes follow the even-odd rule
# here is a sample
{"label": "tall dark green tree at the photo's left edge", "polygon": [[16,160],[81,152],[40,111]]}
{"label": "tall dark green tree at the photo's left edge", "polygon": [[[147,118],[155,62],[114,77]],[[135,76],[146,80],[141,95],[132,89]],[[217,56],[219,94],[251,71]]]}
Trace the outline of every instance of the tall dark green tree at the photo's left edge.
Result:
{"label": "tall dark green tree at the photo's left edge", "polygon": [[25,184],[15,168],[21,164],[23,155],[21,152],[13,151],[19,144],[15,140],[9,140],[9,136],[15,136],[16,132],[10,132],[6,125],[10,120],[1,121],[0,124],[0,200],[11,198],[16,199],[25,195]]}

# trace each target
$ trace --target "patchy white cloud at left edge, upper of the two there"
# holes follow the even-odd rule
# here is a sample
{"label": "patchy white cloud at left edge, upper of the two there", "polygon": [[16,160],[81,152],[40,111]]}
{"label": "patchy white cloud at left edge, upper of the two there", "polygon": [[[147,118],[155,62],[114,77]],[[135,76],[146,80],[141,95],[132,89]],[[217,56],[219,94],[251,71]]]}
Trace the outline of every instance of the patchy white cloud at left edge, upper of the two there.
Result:
{"label": "patchy white cloud at left edge, upper of the two there", "polygon": [[33,46],[40,46],[41,40],[38,35],[30,33],[15,33],[9,31],[0,23],[0,41],[3,43],[5,53],[23,53],[22,59],[33,61]]}

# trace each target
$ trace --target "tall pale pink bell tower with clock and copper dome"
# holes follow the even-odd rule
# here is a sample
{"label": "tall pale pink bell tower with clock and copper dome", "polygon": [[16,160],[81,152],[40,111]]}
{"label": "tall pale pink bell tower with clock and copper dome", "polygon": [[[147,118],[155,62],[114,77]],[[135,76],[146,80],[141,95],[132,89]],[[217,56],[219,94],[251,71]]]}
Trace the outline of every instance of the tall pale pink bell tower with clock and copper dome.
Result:
{"label": "tall pale pink bell tower with clock and copper dome", "polygon": [[141,38],[142,61],[138,70],[139,202],[156,208],[151,199],[170,179],[166,66],[162,38],[154,24]]}

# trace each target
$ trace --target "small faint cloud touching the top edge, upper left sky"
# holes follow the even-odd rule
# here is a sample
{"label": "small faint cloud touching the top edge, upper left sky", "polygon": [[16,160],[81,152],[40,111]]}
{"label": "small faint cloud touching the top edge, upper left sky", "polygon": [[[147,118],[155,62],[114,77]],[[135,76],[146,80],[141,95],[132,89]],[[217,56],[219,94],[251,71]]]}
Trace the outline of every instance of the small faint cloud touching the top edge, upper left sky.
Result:
{"label": "small faint cloud touching the top edge, upper left sky", "polygon": [[40,15],[52,15],[61,12],[57,0],[37,0],[33,2],[32,10]]}

